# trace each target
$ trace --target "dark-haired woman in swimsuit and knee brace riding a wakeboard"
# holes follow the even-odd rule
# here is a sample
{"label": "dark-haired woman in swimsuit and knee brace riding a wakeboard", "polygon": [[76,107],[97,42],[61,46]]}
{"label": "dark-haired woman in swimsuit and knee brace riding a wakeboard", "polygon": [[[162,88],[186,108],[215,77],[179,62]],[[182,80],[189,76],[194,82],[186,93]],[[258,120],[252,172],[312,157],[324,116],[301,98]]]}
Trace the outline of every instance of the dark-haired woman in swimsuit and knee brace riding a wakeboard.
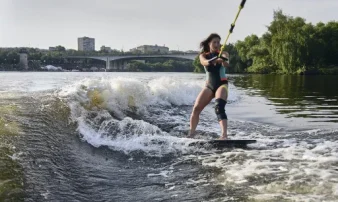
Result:
{"label": "dark-haired woman in swimsuit and knee brace riding a wakeboard", "polygon": [[215,113],[222,128],[220,139],[227,139],[227,115],[224,108],[228,98],[228,80],[225,67],[229,67],[226,62],[229,54],[224,51],[222,57],[218,57],[221,47],[220,40],[221,37],[213,33],[200,44],[202,51],[199,59],[206,72],[206,86],[199,93],[190,117],[189,138],[195,136],[200,113],[215,98]]}

